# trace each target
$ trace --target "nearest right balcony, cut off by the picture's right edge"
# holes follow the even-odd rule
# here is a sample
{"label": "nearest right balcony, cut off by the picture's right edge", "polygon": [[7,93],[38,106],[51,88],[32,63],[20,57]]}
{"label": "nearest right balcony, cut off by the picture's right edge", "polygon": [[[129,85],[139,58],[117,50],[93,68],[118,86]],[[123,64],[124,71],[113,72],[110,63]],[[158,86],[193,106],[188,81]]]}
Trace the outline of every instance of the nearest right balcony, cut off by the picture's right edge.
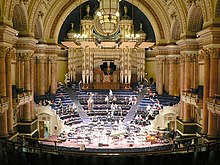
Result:
{"label": "nearest right balcony, cut off by the picture's right edge", "polygon": [[220,98],[212,97],[207,99],[207,108],[212,113],[220,116]]}

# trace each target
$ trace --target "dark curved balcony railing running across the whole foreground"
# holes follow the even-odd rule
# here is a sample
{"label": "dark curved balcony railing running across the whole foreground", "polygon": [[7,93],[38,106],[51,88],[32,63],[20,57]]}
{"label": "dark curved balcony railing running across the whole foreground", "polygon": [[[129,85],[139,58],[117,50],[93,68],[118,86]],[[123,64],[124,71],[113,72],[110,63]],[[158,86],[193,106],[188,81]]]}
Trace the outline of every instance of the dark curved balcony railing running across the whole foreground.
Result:
{"label": "dark curved balcony railing running across the whole foreground", "polygon": [[[178,139],[175,140],[175,142],[179,141],[187,141],[187,140],[192,140],[192,139],[197,139],[201,137],[194,137],[194,138],[186,138],[186,139]],[[172,149],[167,149],[167,150],[157,150],[157,151],[140,151],[140,152],[86,152],[86,151],[72,151],[72,150],[61,150],[59,147],[56,146],[56,143],[60,142],[58,140],[48,140],[48,139],[42,139],[42,138],[30,138],[30,137],[25,137],[25,139],[33,140],[33,141],[47,141],[47,142],[54,142],[54,146],[46,147],[47,145],[44,145],[42,143],[33,143],[33,144],[24,144],[21,142],[13,142],[13,141],[3,141],[0,140],[0,149],[2,151],[7,151],[9,148],[11,148],[13,151],[19,149],[19,152],[33,152],[33,153],[55,153],[55,154],[75,154],[75,155],[96,155],[96,156],[110,156],[110,155],[118,155],[118,156],[128,156],[128,155],[162,155],[162,154],[170,154],[170,153],[179,153],[179,152],[195,152],[198,150],[201,150],[202,147],[205,147],[206,150],[213,150],[214,149],[219,149],[220,147],[220,140],[215,140],[211,142],[205,142],[204,144],[194,144],[194,145],[189,145],[185,147],[180,147],[176,148],[175,145],[173,145]],[[9,147],[7,147],[7,145]]]}

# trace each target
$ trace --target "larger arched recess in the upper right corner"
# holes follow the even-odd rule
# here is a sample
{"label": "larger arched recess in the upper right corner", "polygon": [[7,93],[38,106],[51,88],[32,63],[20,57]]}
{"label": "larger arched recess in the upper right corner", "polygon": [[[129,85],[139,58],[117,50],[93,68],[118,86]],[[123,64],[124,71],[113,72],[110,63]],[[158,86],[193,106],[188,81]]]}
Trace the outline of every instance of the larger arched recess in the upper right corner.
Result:
{"label": "larger arched recess in the upper right corner", "polygon": [[202,8],[193,3],[189,9],[189,15],[187,18],[187,31],[198,32],[202,30],[203,26],[203,13]]}

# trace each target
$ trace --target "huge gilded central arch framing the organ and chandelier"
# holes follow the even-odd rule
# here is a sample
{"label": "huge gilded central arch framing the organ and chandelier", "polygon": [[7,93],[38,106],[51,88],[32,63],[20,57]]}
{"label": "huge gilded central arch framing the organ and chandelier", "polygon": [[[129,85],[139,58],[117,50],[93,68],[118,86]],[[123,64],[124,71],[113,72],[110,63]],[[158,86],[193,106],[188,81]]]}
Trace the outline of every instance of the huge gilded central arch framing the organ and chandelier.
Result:
{"label": "huge gilded central arch framing the organ and chandelier", "polygon": [[[84,3],[85,0],[82,0],[81,3]],[[141,3],[140,3],[141,2]],[[46,19],[44,20],[44,26],[45,26],[45,35],[48,41],[51,42],[58,42],[58,36],[59,31],[62,27],[63,21],[67,18],[67,16],[71,13],[72,10],[74,10],[77,6],[79,6],[79,2],[72,2],[68,1],[63,6],[58,6],[51,11]],[[164,19],[162,19],[164,22],[162,23],[161,19],[159,18],[159,15],[154,9],[157,7],[153,7],[151,3],[147,3],[146,1],[140,1],[135,0],[133,5],[135,5],[137,8],[139,8],[144,15],[149,19],[153,30],[155,32],[156,42],[160,41],[161,39],[168,39],[169,36],[169,30],[165,30],[165,28],[170,27],[169,19],[165,16],[165,14],[161,14]],[[55,16],[52,18],[52,15]],[[50,21],[49,21],[50,20]],[[52,24],[51,24],[52,22]],[[163,26],[164,25],[164,26]],[[167,32],[167,34],[165,34]],[[53,40],[51,40],[53,39]]]}

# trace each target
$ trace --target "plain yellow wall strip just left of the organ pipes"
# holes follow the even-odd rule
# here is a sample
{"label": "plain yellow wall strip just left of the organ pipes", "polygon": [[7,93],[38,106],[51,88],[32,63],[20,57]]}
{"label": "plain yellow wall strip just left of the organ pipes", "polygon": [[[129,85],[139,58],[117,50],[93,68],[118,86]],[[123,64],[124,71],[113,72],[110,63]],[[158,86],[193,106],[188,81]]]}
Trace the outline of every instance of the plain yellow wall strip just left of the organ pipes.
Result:
{"label": "plain yellow wall strip just left of the organ pipes", "polygon": [[65,74],[67,73],[68,61],[66,57],[59,57],[57,62],[57,81],[64,82]]}

